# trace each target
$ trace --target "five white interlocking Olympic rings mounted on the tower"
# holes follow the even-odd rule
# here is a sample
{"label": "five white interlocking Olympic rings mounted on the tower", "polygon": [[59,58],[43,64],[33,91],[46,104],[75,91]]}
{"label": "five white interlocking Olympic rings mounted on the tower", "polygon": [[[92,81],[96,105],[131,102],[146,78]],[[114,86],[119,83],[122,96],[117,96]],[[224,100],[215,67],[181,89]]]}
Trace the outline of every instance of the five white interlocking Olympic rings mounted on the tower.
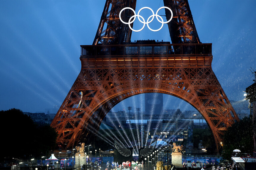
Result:
{"label": "five white interlocking Olympic rings mounted on the tower", "polygon": [[[160,9],[163,9],[163,8],[168,9],[168,10],[171,12],[171,14],[172,14],[170,20],[168,20],[168,21],[166,21],[166,22],[164,22],[163,18],[162,18],[160,15],[158,15],[159,10],[160,10]],[[124,21],[121,19],[121,13],[122,13],[125,9],[131,9],[132,12],[134,13],[134,15],[129,19],[128,22],[124,22]],[[143,10],[143,9],[149,9],[149,10],[151,10],[151,12],[152,12],[152,15],[148,17],[147,22],[145,22],[145,19],[140,15],[141,10]],[[134,30],[134,29],[132,29],[132,27],[131,27],[131,25],[130,25],[130,24],[132,24],[132,23],[135,21],[136,17],[138,17],[139,21],[140,21],[141,23],[143,23],[143,27],[142,27],[141,29],[139,29],[139,30]],[[159,29],[157,29],[157,30],[151,29],[151,28],[149,27],[149,25],[148,25],[149,23],[151,23],[151,22],[154,20],[154,17],[157,18],[157,21],[158,21],[158,22],[162,23],[161,27],[160,27]],[[158,17],[161,19],[161,21],[159,20]],[[143,21],[140,20],[140,18],[141,18]],[[150,18],[152,18],[152,19],[150,20]],[[154,32],[159,31],[159,30],[162,29],[162,27],[164,26],[164,24],[170,22],[170,21],[172,20],[172,18],[173,18],[173,12],[172,12],[172,10],[171,10],[170,8],[168,8],[168,7],[161,7],[161,8],[159,8],[159,9],[157,10],[157,13],[156,13],[156,14],[155,14],[154,11],[153,11],[151,8],[149,8],[149,7],[143,7],[143,8],[141,8],[141,9],[139,10],[139,12],[138,12],[137,15],[136,15],[136,12],[135,12],[132,8],[130,8],[130,7],[123,8],[123,9],[120,11],[120,13],[119,13],[119,19],[120,19],[120,21],[123,22],[124,24],[128,24],[128,25],[129,25],[129,28],[130,28],[132,31],[135,31],[135,32],[139,32],[139,31],[143,30],[146,24],[147,24],[147,26],[148,26],[148,29],[150,29],[151,31],[154,31]],[[131,21],[131,20],[132,20],[132,21]]]}

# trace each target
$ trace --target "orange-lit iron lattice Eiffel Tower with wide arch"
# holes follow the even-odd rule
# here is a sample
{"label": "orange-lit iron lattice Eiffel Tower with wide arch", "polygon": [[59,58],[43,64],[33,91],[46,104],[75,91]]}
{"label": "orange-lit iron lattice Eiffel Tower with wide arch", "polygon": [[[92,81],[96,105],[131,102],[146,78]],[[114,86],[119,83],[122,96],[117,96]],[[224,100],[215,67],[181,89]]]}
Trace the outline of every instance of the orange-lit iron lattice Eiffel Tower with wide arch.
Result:
{"label": "orange-lit iron lattice Eiffel Tower with wide arch", "polygon": [[81,71],[51,123],[59,145],[89,140],[108,111],[126,98],[165,93],[203,115],[219,149],[224,131],[239,119],[212,71],[211,44],[199,43],[187,0],[164,3],[175,9],[176,20],[169,24],[173,44],[127,43],[131,31],[116,18],[124,7],[135,9],[136,1],[106,1],[94,43],[81,46]]}

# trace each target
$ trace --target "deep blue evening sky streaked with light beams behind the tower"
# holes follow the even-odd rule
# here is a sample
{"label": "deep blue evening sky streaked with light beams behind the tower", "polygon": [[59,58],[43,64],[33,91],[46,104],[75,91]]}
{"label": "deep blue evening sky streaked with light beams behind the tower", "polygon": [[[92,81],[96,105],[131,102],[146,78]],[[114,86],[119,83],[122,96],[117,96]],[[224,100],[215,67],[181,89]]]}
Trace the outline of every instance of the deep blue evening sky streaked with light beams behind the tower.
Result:
{"label": "deep blue evening sky streaked with light beams behind the tower", "polygon": [[[80,45],[92,44],[104,5],[105,0],[0,1],[0,110],[60,107],[80,72]],[[200,41],[212,43],[212,68],[222,88],[229,100],[243,100],[243,91],[253,83],[249,69],[256,69],[256,1],[193,0],[189,5]],[[137,0],[136,12],[145,6],[156,12],[164,5],[162,0]],[[141,15],[146,19],[150,13]],[[134,29],[140,26],[135,21]],[[160,24],[154,20],[151,26]],[[131,41],[143,39],[170,41],[167,24],[159,32],[145,27],[132,33]],[[144,110],[143,99],[128,98],[113,110],[128,105]],[[188,105],[164,95],[165,109]]]}

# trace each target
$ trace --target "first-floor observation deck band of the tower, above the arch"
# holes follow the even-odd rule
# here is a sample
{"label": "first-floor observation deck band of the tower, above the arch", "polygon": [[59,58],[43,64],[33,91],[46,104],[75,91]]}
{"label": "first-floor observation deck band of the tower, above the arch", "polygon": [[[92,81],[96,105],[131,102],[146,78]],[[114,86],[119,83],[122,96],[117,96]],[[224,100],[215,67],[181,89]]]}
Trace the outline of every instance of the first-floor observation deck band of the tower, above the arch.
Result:
{"label": "first-floor observation deck band of the tower, above the arch", "polygon": [[211,66],[211,43],[170,44],[154,40],[81,46],[82,67]]}

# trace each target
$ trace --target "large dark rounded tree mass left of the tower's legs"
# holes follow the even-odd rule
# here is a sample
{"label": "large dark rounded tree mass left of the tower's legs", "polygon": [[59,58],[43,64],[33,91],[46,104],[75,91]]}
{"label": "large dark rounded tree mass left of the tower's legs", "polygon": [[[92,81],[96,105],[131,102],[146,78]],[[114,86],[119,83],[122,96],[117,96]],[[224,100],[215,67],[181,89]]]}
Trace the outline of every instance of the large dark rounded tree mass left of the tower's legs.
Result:
{"label": "large dark rounded tree mass left of the tower's legs", "polygon": [[0,113],[1,158],[38,158],[54,149],[57,133],[50,125],[35,124],[19,109],[2,110]]}

